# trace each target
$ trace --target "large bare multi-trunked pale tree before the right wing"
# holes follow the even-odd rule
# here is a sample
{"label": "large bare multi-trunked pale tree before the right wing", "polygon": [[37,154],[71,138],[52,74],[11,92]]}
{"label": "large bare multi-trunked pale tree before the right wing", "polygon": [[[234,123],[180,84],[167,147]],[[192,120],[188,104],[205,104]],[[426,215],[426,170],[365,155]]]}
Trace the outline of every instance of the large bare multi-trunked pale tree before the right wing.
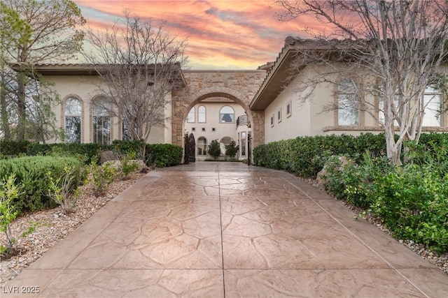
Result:
{"label": "large bare multi-trunked pale tree before the right wing", "polygon": [[[341,82],[332,80],[335,74],[345,79],[351,96],[343,104],[377,119],[384,127],[387,156],[399,165],[403,140],[419,140],[428,105],[423,98],[426,87],[446,88],[440,84],[446,75],[440,66],[448,55],[447,1],[275,2],[283,8],[279,20],[314,16],[328,30],[304,29],[312,45],[307,45],[310,40],[300,40],[296,70],[307,64],[325,67],[307,81],[302,99],[311,98],[317,84]],[[379,106],[364,100],[368,95],[379,98]]]}

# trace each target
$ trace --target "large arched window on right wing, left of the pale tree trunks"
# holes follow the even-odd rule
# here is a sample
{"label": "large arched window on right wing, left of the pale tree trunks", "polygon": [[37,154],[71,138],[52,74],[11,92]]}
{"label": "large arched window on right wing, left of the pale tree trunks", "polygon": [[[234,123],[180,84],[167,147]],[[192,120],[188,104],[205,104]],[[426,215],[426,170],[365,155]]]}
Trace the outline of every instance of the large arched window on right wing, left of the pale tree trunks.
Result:
{"label": "large arched window on right wing, left of the pale tree trunks", "polygon": [[351,80],[342,80],[337,87],[337,124],[359,124],[359,99]]}

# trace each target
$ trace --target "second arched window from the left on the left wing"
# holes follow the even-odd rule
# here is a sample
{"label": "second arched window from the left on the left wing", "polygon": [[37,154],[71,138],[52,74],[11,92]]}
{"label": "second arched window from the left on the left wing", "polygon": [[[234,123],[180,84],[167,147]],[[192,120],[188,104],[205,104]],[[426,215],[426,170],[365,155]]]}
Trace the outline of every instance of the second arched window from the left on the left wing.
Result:
{"label": "second arched window from the left on the left wing", "polygon": [[106,98],[97,98],[92,105],[92,142],[111,143],[111,104]]}

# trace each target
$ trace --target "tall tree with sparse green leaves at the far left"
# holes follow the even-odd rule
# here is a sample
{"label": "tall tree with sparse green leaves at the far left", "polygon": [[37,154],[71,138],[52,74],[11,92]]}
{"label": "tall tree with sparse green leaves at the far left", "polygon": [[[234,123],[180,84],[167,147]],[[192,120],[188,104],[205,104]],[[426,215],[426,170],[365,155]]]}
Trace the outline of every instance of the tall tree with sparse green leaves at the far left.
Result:
{"label": "tall tree with sparse green leaves at the far left", "polygon": [[[33,66],[76,58],[83,44],[83,32],[78,27],[85,24],[85,19],[69,0],[3,0],[1,20],[2,77],[8,74],[10,82],[2,80],[2,90],[5,87],[6,92],[0,106],[2,116],[13,107],[16,119],[8,121],[16,121],[16,139],[24,140],[29,124],[36,129],[32,131],[36,135],[54,122],[48,105],[57,103],[54,92],[44,91],[49,85],[43,83]],[[6,64],[13,66],[14,75],[10,75]],[[36,87],[41,88],[41,94],[34,92]],[[5,130],[3,117],[2,127]]]}

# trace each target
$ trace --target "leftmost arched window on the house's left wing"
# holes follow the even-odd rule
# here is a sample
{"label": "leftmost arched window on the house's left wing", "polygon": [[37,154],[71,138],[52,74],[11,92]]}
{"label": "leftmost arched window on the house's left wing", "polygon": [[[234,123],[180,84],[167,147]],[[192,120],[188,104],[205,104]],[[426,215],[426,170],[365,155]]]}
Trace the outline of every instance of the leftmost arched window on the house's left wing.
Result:
{"label": "leftmost arched window on the house's left wing", "polygon": [[65,142],[81,142],[82,107],[78,98],[67,98],[65,101]]}

